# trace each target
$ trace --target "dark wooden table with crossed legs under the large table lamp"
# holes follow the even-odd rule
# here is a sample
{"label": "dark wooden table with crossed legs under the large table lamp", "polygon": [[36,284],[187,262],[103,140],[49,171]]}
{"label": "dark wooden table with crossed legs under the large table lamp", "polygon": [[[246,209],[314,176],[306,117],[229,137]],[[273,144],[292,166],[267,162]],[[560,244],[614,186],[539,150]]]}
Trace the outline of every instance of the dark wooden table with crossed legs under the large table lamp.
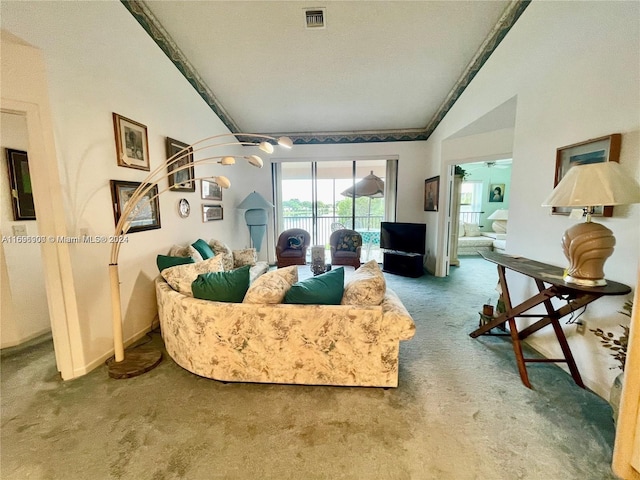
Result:
{"label": "dark wooden table with crossed legs under the large table lamp", "polygon": [[[535,260],[530,260],[524,257],[503,255],[496,252],[484,252],[480,255],[482,255],[485,260],[493,262],[498,266],[498,278],[502,289],[502,297],[506,312],[480,326],[480,328],[471,332],[470,336],[476,338],[483,334],[490,334],[490,330],[492,328],[504,327],[505,323],[508,322],[509,333],[506,335],[511,336],[513,351],[516,356],[516,362],[518,364],[518,371],[520,372],[522,383],[524,383],[528,388],[531,388],[526,368],[527,362],[566,362],[573,380],[580,387],[584,388],[580,372],[578,371],[576,362],[573,359],[573,354],[571,353],[571,349],[569,348],[567,338],[564,335],[564,331],[562,330],[559,320],[602,296],[625,295],[631,292],[631,288],[627,285],[623,285],[622,283],[612,282],[610,280],[607,280],[607,285],[603,287],[582,287],[580,285],[565,283],[562,278],[563,270],[560,267],[536,262]],[[509,295],[509,287],[507,285],[507,278],[505,274],[507,269],[533,278],[536,282],[536,286],[538,287],[538,293],[525,300],[520,305],[513,306],[511,304],[511,297]],[[554,297],[566,300],[567,304],[556,309],[551,302],[551,299]],[[540,304],[544,304],[546,314],[525,313]],[[540,320],[529,327],[518,331],[515,321],[517,317],[538,317]],[[560,348],[562,349],[564,358],[524,358],[522,354],[521,341],[547,325],[551,325],[553,327],[553,331],[556,334],[558,343],[560,343]]]}

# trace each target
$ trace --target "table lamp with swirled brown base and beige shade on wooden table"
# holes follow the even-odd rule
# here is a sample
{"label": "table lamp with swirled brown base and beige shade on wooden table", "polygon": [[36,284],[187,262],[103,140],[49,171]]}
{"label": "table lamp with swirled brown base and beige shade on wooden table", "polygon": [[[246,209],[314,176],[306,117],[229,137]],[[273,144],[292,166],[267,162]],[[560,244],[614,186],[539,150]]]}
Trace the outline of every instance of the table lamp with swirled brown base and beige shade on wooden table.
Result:
{"label": "table lamp with swirled brown base and beige shade on wooden table", "polygon": [[606,285],[604,263],[613,253],[613,232],[591,220],[595,207],[640,203],[640,185],[617,162],[571,167],[543,207],[582,207],[584,223],[569,227],[562,248],[569,260],[564,280],[587,287]]}

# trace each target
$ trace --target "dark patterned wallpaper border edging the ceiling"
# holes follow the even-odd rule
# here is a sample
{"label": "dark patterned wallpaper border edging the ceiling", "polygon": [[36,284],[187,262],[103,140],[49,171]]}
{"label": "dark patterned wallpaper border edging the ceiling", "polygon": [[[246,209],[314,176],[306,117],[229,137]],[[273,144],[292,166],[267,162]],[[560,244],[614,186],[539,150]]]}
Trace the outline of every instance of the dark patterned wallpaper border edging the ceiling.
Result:
{"label": "dark patterned wallpaper border edging the ceiling", "polygon": [[[242,130],[235,123],[231,115],[218,101],[204,79],[189,63],[178,45],[173,41],[169,33],[153,15],[143,0],[120,0],[125,8],[133,15],[138,23],[145,29],[160,49],[169,57],[176,68],[187,79],[191,86],[198,92],[213,112],[222,120],[232,133],[240,133]],[[469,65],[453,86],[446,99],[438,108],[424,129],[407,130],[382,130],[382,131],[352,131],[352,132],[261,132],[267,135],[288,135],[296,144],[323,145],[336,143],[375,143],[375,142],[413,142],[427,140],[438,124],[453,107],[467,86],[471,83],[484,63],[489,59],[494,50],[500,45],[511,27],[516,23],[520,15],[529,6],[532,0],[513,0],[506,8],[498,23],[494,26],[484,43],[475,54]]]}

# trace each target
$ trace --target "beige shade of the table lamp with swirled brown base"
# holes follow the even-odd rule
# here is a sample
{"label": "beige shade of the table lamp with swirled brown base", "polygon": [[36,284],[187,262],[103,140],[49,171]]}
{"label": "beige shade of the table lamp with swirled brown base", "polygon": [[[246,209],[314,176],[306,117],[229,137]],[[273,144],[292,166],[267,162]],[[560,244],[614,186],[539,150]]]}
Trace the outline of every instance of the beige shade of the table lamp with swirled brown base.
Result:
{"label": "beige shade of the table lamp with swirled brown base", "polygon": [[543,207],[597,207],[640,203],[640,186],[618,162],[571,167]]}

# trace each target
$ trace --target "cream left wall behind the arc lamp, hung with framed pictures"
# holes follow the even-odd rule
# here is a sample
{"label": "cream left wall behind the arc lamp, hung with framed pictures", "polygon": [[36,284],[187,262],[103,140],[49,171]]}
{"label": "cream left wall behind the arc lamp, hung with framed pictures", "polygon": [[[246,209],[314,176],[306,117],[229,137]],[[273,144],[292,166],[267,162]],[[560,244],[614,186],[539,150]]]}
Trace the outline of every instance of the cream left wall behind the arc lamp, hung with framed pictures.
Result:
{"label": "cream left wall behind the arc lamp, hung with framed pictures", "polygon": [[[112,112],[147,126],[151,169],[166,158],[167,136],[191,143],[228,132],[120,2],[3,2],[1,8],[3,30],[40,49],[45,60],[69,235],[81,229],[110,235],[109,180],[141,181],[146,175],[117,166]],[[10,74],[10,69],[3,71],[3,83]],[[219,174],[221,168],[196,167],[196,176]],[[200,237],[245,245],[236,243],[241,217],[233,207],[251,191],[244,177],[252,168],[240,163],[225,168],[232,190],[223,194],[223,221],[202,222],[198,185],[195,193],[160,197],[161,229],[128,236],[119,261],[125,340],[147,331],[156,314],[152,281],[158,253]],[[180,198],[191,204],[188,219],[178,216]],[[74,331],[78,335],[72,348],[80,349],[83,358],[74,364],[74,375],[81,375],[112,353],[109,245],[69,245],[69,252],[79,314],[78,324],[70,328],[72,336]]]}

